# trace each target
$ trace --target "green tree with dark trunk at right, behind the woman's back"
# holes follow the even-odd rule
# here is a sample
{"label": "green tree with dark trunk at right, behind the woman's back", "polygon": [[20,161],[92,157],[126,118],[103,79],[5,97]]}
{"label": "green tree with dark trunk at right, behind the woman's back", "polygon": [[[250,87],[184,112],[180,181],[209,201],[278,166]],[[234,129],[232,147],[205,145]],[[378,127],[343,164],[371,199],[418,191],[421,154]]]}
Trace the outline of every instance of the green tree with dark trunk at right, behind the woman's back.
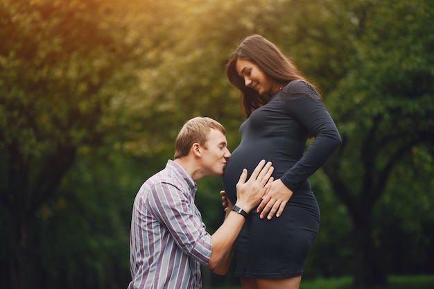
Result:
{"label": "green tree with dark trunk at right, behind the woman's back", "polygon": [[372,216],[394,169],[419,151],[433,152],[433,11],[427,8],[423,0],[351,7],[354,68],[328,102],[343,142],[324,171],[354,222],[356,288],[386,281]]}

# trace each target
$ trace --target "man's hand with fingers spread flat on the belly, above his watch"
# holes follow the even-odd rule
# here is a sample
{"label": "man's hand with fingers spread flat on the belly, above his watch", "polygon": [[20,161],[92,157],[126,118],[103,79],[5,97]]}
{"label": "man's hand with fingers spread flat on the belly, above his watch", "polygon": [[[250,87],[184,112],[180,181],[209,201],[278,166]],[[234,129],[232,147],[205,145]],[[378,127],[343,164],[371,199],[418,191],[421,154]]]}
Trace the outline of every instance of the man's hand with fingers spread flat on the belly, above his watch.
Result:
{"label": "man's hand with fingers spread flat on the belly, above his watch", "polygon": [[274,168],[270,161],[266,163],[265,160],[261,160],[246,182],[248,171],[244,168],[236,184],[236,205],[246,212],[254,209],[261,202],[270,187],[270,183],[273,180],[271,177],[273,170]]}

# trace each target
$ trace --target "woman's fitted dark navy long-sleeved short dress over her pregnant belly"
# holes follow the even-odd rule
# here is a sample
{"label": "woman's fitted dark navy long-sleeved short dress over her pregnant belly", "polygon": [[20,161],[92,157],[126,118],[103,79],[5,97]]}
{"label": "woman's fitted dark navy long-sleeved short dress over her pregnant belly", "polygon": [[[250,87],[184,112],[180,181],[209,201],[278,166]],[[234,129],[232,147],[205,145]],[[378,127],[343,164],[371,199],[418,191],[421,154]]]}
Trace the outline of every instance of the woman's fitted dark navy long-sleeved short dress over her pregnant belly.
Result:
{"label": "woman's fitted dark navy long-sleeved short dress over her pregnant belly", "polygon": [[[316,91],[296,80],[254,110],[240,133],[241,143],[223,175],[227,198],[236,202],[235,185],[243,168],[250,174],[261,159],[272,161],[273,177],[294,193],[279,218],[261,220],[256,210],[250,212],[236,242],[235,276],[300,276],[320,226],[320,210],[307,178],[340,145],[338,129]],[[311,135],[315,139],[304,152]]]}

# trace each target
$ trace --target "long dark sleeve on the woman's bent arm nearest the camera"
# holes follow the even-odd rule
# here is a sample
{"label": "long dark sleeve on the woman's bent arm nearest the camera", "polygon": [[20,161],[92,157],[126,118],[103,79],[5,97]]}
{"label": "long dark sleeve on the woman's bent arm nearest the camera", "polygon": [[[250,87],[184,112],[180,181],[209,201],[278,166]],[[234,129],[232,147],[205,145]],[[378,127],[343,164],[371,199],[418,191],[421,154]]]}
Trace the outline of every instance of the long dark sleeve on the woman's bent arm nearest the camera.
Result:
{"label": "long dark sleeve on the woman's bent arm nearest the camera", "polygon": [[285,89],[306,91],[288,96],[286,110],[315,137],[302,158],[281,177],[291,191],[295,191],[302,182],[315,173],[329,159],[342,142],[338,128],[327,112],[324,103],[315,89],[305,82],[291,82]]}

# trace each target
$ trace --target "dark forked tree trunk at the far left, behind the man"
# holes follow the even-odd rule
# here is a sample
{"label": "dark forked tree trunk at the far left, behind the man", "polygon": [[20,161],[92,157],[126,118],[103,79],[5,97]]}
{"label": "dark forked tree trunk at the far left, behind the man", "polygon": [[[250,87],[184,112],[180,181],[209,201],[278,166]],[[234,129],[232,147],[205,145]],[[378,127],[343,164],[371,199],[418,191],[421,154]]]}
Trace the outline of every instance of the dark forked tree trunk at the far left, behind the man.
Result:
{"label": "dark forked tree trunk at the far left, behind the man", "polygon": [[[38,173],[29,173],[33,168],[13,143],[8,147],[9,188],[3,198],[10,214],[8,232],[8,280],[3,281],[10,289],[42,287],[43,282],[37,267],[40,257],[37,248],[36,212],[42,204],[53,198],[60,179],[72,166],[76,148],[59,146],[45,156],[45,165]],[[33,175],[33,177],[30,177]],[[35,176],[34,176],[35,175]],[[33,180],[33,182],[31,182]],[[39,285],[39,286],[38,286]]]}

